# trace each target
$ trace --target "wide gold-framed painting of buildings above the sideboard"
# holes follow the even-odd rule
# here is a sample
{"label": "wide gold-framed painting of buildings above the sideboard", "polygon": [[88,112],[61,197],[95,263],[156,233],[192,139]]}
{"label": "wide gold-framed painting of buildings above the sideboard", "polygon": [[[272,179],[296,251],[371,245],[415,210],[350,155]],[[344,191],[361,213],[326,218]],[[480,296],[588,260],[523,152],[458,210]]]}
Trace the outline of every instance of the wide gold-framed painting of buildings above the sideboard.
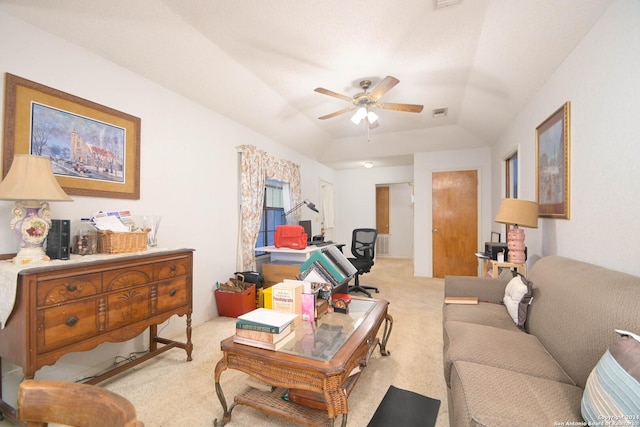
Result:
{"label": "wide gold-framed painting of buildings above the sideboard", "polygon": [[140,199],[140,119],[6,73],[3,177],[14,154],[51,158],[67,194]]}

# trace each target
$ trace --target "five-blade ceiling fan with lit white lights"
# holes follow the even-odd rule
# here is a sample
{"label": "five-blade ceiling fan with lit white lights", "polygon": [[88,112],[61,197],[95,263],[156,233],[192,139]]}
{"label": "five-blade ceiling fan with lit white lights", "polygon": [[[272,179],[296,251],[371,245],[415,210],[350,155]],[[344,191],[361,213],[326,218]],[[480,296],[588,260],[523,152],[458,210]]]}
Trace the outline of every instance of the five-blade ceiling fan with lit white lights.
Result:
{"label": "five-blade ceiling fan with lit white lights", "polygon": [[343,108],[342,110],[318,118],[320,120],[326,120],[332,117],[339,116],[340,114],[356,110],[356,113],[351,117],[351,121],[353,121],[355,124],[359,124],[361,120],[365,120],[366,123],[368,123],[369,128],[373,129],[378,127],[378,115],[373,111],[374,109],[403,111],[406,113],[420,113],[424,108],[422,105],[380,102],[380,98],[382,97],[382,95],[390,91],[398,83],[400,83],[400,80],[392,76],[387,76],[382,79],[380,83],[378,83],[373,89],[371,89],[371,92],[367,92],[367,89],[371,87],[371,80],[362,80],[360,82],[362,92],[356,93],[353,98],[321,87],[316,88],[315,92],[333,96],[335,98],[342,99],[353,104],[353,106],[351,107]]}

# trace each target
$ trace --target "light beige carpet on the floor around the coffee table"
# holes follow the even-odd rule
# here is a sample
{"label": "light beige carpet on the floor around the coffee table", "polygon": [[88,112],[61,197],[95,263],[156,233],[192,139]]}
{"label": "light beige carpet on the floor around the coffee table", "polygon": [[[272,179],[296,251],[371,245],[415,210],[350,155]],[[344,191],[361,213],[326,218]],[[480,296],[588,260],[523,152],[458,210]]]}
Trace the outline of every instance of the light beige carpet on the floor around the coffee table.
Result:
{"label": "light beige carpet on the floor around the coffee table", "polygon": [[[378,286],[375,298],[390,302],[394,325],[387,343],[391,355],[374,352],[349,397],[348,426],[365,427],[390,385],[441,401],[437,426],[447,427],[442,369],[443,280],[413,277],[411,260],[378,259],[363,284]],[[235,319],[220,317],[194,328],[192,362],[184,351],[170,350],[101,386],[128,398],[146,427],[199,427],[222,418],[214,386],[220,341],[234,333]],[[382,328],[381,328],[382,329]],[[382,330],[380,331],[380,335]],[[227,370],[221,386],[227,403],[245,387],[246,375]],[[340,418],[336,425],[339,425]],[[10,425],[7,421],[0,426]],[[295,426],[295,423],[236,406],[229,426]]]}

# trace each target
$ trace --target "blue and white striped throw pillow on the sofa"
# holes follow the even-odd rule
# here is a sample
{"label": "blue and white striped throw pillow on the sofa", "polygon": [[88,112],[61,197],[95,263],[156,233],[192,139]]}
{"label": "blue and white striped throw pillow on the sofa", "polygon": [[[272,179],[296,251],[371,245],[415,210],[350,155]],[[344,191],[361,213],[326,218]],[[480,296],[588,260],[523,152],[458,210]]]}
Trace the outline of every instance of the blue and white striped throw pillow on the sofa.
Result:
{"label": "blue and white striped throw pillow on the sofa", "polygon": [[640,337],[619,332],[621,336],[587,379],[582,397],[582,416],[587,422],[640,424],[640,419],[629,418],[630,414],[640,414]]}

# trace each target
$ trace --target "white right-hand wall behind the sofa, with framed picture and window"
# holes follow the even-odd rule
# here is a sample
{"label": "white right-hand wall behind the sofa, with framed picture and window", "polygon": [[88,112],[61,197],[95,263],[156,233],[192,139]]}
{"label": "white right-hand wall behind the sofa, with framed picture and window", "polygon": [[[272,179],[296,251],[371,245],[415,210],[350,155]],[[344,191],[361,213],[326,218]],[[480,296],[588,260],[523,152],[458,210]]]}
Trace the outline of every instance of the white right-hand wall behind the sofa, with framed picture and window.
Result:
{"label": "white right-hand wall behind the sofa, with framed picture and window", "polygon": [[639,22],[640,2],[614,1],[494,146],[495,215],[502,157],[520,144],[520,197],[535,200],[535,128],[571,102],[571,218],[526,230],[529,267],[557,254],[640,275]]}

